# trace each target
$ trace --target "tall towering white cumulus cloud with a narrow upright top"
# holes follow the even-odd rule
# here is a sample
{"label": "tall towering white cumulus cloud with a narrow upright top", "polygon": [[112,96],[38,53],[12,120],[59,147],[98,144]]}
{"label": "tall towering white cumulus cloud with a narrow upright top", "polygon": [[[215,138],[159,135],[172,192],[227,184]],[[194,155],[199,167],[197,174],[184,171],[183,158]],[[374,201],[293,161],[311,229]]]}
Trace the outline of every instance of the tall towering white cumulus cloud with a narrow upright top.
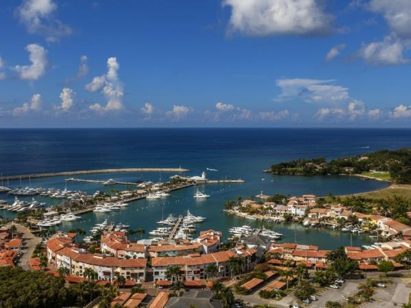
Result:
{"label": "tall towering white cumulus cloud with a narrow upright top", "polygon": [[97,76],[92,79],[90,84],[86,85],[86,90],[96,92],[101,90],[107,103],[105,106],[95,103],[90,105],[90,110],[97,112],[108,112],[113,110],[122,110],[124,108],[123,99],[123,85],[119,80],[120,65],[116,57],[109,57],[107,60],[107,73],[105,75]]}

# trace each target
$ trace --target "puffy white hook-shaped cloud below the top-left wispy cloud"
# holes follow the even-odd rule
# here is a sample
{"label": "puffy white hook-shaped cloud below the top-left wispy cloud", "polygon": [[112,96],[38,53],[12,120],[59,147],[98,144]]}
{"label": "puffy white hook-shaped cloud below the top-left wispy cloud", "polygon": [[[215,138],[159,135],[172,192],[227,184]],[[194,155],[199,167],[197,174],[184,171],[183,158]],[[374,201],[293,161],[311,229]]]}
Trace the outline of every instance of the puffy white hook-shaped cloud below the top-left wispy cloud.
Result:
{"label": "puffy white hook-shaped cloud below the top-left wispy cloud", "polygon": [[29,52],[32,65],[16,65],[15,69],[21,79],[37,80],[44,75],[47,66],[47,50],[38,44],[28,44],[25,49]]}

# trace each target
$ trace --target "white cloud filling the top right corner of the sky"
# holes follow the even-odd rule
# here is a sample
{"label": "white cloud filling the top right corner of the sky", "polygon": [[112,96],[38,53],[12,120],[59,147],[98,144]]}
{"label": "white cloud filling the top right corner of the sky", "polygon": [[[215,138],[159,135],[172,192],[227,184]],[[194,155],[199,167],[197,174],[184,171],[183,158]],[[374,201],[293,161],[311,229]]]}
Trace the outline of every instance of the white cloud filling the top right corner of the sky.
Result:
{"label": "white cloud filling the top right corner of the sky", "polygon": [[371,0],[369,8],[384,15],[390,29],[401,38],[411,38],[411,1]]}

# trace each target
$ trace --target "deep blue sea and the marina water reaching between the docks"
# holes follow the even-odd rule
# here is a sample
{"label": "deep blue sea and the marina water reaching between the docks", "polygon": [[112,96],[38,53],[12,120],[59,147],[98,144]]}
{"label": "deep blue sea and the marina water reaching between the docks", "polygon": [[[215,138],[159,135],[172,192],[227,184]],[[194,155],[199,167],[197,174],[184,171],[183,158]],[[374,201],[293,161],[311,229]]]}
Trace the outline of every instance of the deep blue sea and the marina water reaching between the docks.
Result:
{"label": "deep blue sea and the marina water reaching between the docks", "polygon": [[[266,175],[262,170],[271,164],[299,157],[326,158],[367,153],[377,149],[398,149],[411,146],[408,129],[21,129],[0,130],[0,172],[19,175],[38,172],[127,167],[178,167],[190,170],[187,175],[199,175],[206,168],[209,179],[225,177],[245,179],[244,184],[202,185],[197,188],[211,194],[208,200],[192,198],[197,188],[173,192],[164,200],[142,200],[131,203],[117,213],[85,214],[82,222],[66,222],[63,229],[82,227],[105,218],[127,222],[132,228],[150,231],[155,222],[168,214],[193,214],[208,219],[199,229],[217,229],[224,232],[229,227],[253,222],[228,216],[221,210],[225,201],[242,196],[264,194],[350,194],[383,188],[380,181],[363,181],[356,177],[278,177]],[[167,173],[123,173],[112,175],[85,175],[85,179],[116,179],[135,181],[145,179],[166,181]],[[262,180],[264,179],[264,180]],[[5,183],[6,184],[6,183]],[[28,180],[10,182],[10,186],[29,185]],[[34,179],[33,187],[64,188],[64,178]],[[95,192],[110,188],[89,183],[70,183],[69,190]],[[7,194],[0,198],[11,200]],[[36,197],[48,204],[58,203],[49,198]],[[8,211],[0,211],[10,216]],[[338,231],[311,229],[294,225],[275,225],[284,233],[284,241],[316,244],[321,248],[336,248],[350,244],[350,235]],[[353,245],[367,242],[363,236],[353,236]]]}

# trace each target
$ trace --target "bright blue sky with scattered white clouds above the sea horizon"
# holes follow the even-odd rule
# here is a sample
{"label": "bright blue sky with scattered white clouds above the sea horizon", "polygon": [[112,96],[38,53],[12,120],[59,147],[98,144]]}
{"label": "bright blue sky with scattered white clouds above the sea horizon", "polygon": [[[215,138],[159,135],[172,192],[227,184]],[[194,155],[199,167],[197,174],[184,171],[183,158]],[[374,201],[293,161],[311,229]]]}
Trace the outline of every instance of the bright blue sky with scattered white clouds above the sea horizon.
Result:
{"label": "bright blue sky with scattered white clouds above the sea horizon", "polygon": [[0,127],[410,127],[410,0],[2,0]]}

